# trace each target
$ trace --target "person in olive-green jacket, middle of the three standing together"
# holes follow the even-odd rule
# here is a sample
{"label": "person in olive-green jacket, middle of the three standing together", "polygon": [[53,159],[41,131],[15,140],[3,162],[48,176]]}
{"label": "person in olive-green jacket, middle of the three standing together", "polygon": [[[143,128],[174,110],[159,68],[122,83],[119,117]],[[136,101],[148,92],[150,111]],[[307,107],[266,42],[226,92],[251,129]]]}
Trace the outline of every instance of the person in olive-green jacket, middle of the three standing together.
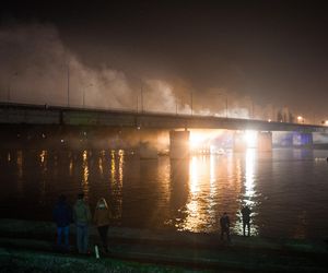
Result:
{"label": "person in olive-green jacket, middle of the three standing together", "polygon": [[79,253],[86,254],[89,248],[89,223],[91,222],[91,212],[87,203],[84,201],[84,193],[78,195],[74,204],[73,218],[77,226],[77,246]]}

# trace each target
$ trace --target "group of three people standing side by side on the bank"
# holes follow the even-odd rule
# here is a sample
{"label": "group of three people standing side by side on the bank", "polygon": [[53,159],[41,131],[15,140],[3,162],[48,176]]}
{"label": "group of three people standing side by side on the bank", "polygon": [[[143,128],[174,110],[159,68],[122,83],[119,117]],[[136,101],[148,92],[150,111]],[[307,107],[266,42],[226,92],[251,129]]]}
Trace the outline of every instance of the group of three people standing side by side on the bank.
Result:
{"label": "group of three people standing side by side on the bank", "polygon": [[[77,249],[79,253],[89,251],[89,227],[92,215],[89,204],[84,200],[84,194],[80,193],[78,200],[71,209],[65,195],[60,195],[54,207],[54,219],[57,225],[57,247],[60,250],[69,250],[69,228],[74,223],[77,228]],[[98,234],[105,252],[108,252],[107,232],[110,222],[110,211],[104,198],[97,201],[93,222],[98,229]]]}

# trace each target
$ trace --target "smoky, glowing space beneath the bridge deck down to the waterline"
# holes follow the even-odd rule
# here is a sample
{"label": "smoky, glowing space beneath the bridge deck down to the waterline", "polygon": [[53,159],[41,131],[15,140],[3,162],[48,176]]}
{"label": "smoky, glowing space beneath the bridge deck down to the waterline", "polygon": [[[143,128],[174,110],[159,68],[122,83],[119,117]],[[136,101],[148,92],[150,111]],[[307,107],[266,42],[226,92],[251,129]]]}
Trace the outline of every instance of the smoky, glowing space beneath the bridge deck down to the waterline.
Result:
{"label": "smoky, glowing space beneath the bridge deck down to the waterline", "polygon": [[169,154],[218,154],[247,147],[270,152],[273,147],[314,147],[328,144],[327,133],[270,132],[225,129],[150,129],[130,127],[0,124],[2,149],[125,150],[140,158]]}

